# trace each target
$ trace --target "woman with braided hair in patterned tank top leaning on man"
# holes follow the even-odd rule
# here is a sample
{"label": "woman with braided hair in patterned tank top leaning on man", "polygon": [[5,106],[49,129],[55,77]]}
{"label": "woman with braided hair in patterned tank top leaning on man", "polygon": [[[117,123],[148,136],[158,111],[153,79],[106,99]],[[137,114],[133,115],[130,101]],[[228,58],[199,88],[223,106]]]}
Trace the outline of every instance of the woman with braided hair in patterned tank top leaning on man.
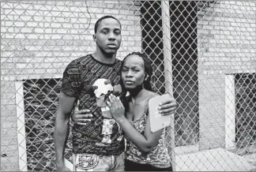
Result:
{"label": "woman with braided hair in patterned tank top leaning on man", "polygon": [[125,170],[170,171],[171,159],[164,146],[164,129],[150,131],[149,99],[152,92],[150,80],[152,65],[145,54],[128,54],[122,63],[122,84],[130,93],[122,105],[119,97],[110,95],[107,105],[111,114],[126,133],[124,153]]}

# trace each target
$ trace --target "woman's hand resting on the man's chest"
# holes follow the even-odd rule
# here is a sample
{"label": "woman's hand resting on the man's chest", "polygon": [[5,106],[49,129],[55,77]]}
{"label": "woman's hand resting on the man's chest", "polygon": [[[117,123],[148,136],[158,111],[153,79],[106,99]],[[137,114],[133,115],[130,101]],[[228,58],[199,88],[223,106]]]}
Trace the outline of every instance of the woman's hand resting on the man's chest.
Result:
{"label": "woman's hand resting on the man's chest", "polygon": [[109,95],[109,101],[107,101],[107,106],[110,107],[111,114],[115,121],[122,122],[122,120],[126,118],[124,115],[125,108],[123,107],[119,97],[116,97],[113,94]]}

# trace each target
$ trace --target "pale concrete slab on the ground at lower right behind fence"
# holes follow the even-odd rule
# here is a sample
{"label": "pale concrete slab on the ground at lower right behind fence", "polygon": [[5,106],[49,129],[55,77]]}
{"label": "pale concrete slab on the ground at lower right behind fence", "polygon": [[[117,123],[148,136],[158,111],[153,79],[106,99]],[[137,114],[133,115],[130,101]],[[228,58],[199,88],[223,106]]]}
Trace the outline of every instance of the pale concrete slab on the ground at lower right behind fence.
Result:
{"label": "pale concrete slab on the ground at lower right behind fence", "polygon": [[176,171],[254,171],[256,167],[244,157],[223,148],[176,155],[175,163]]}

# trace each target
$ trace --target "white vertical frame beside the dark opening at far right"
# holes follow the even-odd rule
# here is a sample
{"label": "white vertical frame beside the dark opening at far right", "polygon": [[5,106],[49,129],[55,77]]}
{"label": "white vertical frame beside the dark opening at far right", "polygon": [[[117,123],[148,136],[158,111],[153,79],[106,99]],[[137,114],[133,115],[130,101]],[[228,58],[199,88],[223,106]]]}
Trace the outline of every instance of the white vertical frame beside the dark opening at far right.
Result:
{"label": "white vertical frame beside the dark opening at far right", "polygon": [[225,76],[225,147],[235,146],[235,76]]}

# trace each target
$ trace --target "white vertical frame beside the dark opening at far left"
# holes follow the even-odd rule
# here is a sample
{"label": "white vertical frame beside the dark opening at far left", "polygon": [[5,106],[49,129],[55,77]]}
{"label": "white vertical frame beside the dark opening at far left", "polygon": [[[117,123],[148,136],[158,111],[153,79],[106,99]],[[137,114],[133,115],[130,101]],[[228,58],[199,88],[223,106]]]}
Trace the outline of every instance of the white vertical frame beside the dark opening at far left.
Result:
{"label": "white vertical frame beside the dark opening at far left", "polygon": [[26,132],[24,122],[24,97],[23,82],[15,82],[16,88],[16,114],[17,114],[17,143],[19,151],[19,166],[21,171],[28,171],[27,166],[27,148],[26,148]]}

